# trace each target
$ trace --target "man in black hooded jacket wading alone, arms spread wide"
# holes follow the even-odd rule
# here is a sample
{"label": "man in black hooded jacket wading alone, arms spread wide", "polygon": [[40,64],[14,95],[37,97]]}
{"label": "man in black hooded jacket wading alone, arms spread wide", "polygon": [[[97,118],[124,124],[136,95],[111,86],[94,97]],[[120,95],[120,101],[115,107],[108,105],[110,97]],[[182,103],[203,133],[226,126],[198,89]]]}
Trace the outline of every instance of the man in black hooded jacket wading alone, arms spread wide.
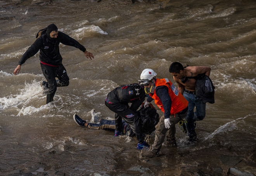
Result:
{"label": "man in black hooded jacket wading alone, arms spread wide", "polygon": [[[14,75],[17,75],[21,70],[21,65],[25,61],[34,56],[40,50],[40,65],[43,75],[47,82],[42,81],[41,86],[47,90],[46,104],[53,101],[57,87],[64,87],[69,85],[69,77],[67,76],[66,68],[62,65],[62,56],[59,52],[59,43],[74,46],[83,51],[86,58],[92,60],[92,53],[86,51],[85,47],[75,39],[69,37],[67,34],[58,31],[55,24],[50,24],[45,29],[45,34],[42,34],[36,41],[28,48],[19,60],[19,65],[14,70]],[[57,77],[59,80],[55,79]]]}

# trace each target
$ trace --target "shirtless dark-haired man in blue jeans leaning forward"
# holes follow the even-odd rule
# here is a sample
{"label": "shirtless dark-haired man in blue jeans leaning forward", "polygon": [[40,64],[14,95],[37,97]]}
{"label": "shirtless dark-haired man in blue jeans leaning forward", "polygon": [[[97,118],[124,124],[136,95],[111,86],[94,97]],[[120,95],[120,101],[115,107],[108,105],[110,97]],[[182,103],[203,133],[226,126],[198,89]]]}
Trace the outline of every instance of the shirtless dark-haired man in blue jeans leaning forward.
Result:
{"label": "shirtless dark-haired man in blue jeans leaning forward", "polygon": [[[178,84],[178,91],[183,94],[189,102],[189,110],[187,113],[187,130],[189,141],[197,141],[195,133],[195,121],[203,120],[205,117],[206,103],[203,103],[195,94],[195,79],[199,74],[204,73],[210,76],[211,68],[206,66],[188,66],[183,67],[179,62],[173,62],[170,65],[169,72],[173,75],[173,80]],[[196,108],[194,112],[194,107]]]}

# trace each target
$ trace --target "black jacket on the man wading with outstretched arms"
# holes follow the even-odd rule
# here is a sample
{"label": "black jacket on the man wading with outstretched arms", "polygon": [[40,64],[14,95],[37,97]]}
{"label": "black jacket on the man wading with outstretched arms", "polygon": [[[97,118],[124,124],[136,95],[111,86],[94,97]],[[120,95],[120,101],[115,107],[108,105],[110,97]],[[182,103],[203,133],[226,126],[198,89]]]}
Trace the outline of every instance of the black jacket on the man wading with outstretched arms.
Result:
{"label": "black jacket on the man wading with outstretched arms", "polygon": [[40,61],[44,63],[48,63],[50,65],[58,66],[62,63],[62,56],[59,51],[59,44],[65,44],[68,46],[74,46],[79,50],[85,52],[86,49],[83,45],[81,45],[75,39],[69,37],[67,34],[60,32],[58,33],[58,37],[56,41],[50,41],[47,37],[47,34],[43,34],[40,38],[36,39],[36,41],[28,48],[28,50],[23,54],[21,59],[19,60],[19,65],[25,63],[25,61],[34,56],[40,50]]}

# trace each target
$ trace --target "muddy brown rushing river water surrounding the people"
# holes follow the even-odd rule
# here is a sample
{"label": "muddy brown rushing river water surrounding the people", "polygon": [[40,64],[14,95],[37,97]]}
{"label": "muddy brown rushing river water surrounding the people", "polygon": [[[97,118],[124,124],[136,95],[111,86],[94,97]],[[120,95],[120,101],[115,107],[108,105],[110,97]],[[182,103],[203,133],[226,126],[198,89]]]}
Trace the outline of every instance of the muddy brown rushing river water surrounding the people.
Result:
{"label": "muddy brown rushing river water surrounding the people", "polygon": [[[70,84],[45,104],[39,53],[13,71],[52,23],[94,59],[60,44]],[[255,39],[253,0],[0,0],[0,175],[256,175]],[[74,123],[74,113],[90,121],[93,108],[114,118],[107,93],[145,68],[174,83],[175,61],[211,67],[215,103],[197,122],[198,143],[176,126],[178,147],[142,159],[136,138]]]}

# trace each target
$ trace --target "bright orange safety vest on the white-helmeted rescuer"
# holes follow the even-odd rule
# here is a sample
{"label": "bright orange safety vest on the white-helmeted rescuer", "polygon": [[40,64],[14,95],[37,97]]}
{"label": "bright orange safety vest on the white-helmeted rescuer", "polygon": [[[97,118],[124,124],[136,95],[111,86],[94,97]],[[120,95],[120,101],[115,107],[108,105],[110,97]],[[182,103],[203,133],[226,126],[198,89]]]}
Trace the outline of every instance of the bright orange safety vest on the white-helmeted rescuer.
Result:
{"label": "bright orange safety vest on the white-helmeted rescuer", "polygon": [[[157,86],[165,85],[168,87],[168,93],[171,97],[171,114],[176,114],[187,108],[189,102],[183,97],[183,95],[178,91],[178,89],[171,83],[167,78],[156,79],[156,88]],[[154,94],[149,94],[150,97],[155,99],[155,103],[161,111],[164,112],[164,106],[159,97],[156,95],[156,88]]]}

